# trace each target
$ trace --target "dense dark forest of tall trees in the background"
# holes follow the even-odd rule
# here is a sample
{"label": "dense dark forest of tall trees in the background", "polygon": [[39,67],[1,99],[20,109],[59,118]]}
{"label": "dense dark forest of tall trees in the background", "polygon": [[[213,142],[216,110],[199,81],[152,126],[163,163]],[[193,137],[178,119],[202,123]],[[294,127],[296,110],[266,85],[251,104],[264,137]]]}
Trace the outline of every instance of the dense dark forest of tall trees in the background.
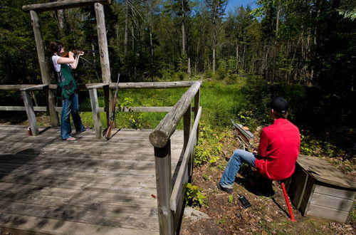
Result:
{"label": "dense dark forest of tall trees in the background", "polygon": [[[41,83],[31,19],[21,6],[43,2],[0,1],[0,84]],[[283,95],[297,124],[314,132],[353,130],[355,1],[258,0],[256,9],[232,11],[226,4],[112,1],[105,6],[112,76],[120,72],[126,82],[204,78],[226,84],[244,77],[249,84],[244,108],[255,110],[256,118],[264,112],[258,109],[261,100]],[[93,7],[39,16],[47,48],[59,40],[67,50],[98,50]],[[75,71],[80,82],[100,82],[98,56],[85,55],[82,63]]]}

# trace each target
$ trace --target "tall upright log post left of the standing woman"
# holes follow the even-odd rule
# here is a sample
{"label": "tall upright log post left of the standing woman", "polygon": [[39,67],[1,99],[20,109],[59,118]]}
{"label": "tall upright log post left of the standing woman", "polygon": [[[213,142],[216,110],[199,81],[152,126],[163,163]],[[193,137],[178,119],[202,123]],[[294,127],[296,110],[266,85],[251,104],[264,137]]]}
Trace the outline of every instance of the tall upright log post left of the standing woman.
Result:
{"label": "tall upright log post left of the standing woman", "polygon": [[[38,62],[40,63],[41,69],[41,78],[43,84],[50,84],[51,78],[49,75],[48,64],[46,63],[46,55],[45,55],[45,46],[43,43],[42,33],[41,33],[41,26],[38,19],[38,14],[36,11],[30,11],[31,21],[33,26],[33,33],[35,36],[36,41],[36,48],[37,48],[37,55],[38,55]],[[51,89],[48,89],[46,93],[47,100],[48,100],[48,111],[51,117],[51,124],[53,127],[59,126],[59,118],[56,113],[56,95],[53,93]]]}

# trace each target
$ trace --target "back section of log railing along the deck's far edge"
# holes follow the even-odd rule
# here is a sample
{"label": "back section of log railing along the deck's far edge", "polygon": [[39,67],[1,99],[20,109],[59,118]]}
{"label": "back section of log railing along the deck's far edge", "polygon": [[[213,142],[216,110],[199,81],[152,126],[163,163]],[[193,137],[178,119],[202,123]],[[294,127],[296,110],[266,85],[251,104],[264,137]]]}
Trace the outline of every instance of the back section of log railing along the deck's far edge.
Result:
{"label": "back section of log railing along the deck's far edge", "polygon": [[[140,88],[184,88],[189,87],[194,83],[194,81],[179,81],[179,82],[167,82],[167,83],[120,83],[120,88],[132,88],[132,89],[140,89]],[[35,112],[48,112],[51,117],[52,126],[56,127],[59,125],[58,114],[57,112],[61,112],[61,107],[56,107],[55,101],[53,100],[53,91],[56,90],[56,84],[50,85],[0,85],[0,90],[19,90],[21,91],[24,106],[0,106],[0,110],[12,110],[12,111],[25,111],[28,116],[28,121],[30,122],[30,127],[33,132],[33,135],[38,135],[38,126],[36,122]],[[93,113],[93,123],[95,129],[95,135],[98,138],[102,137],[102,127],[100,120],[100,112],[107,113],[107,124],[109,119],[109,90],[114,90],[115,84],[108,83],[95,83],[95,84],[86,84],[84,87],[80,89],[88,89],[90,94],[90,107],[80,107],[80,112],[92,112]],[[104,90],[104,100],[105,107],[99,107],[98,105],[98,89]],[[46,106],[33,106],[31,102],[31,92],[34,90],[43,90],[46,92],[47,104]],[[51,93],[48,91],[51,90]],[[172,107],[125,107],[125,108],[117,108],[120,112],[169,112]]]}

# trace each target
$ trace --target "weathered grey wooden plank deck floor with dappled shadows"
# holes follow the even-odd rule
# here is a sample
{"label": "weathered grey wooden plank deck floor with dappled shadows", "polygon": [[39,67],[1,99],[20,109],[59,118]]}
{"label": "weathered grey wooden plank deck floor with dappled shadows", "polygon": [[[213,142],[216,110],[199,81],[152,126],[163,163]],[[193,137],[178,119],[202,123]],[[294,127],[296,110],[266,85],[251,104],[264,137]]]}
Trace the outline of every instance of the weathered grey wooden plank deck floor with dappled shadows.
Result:
{"label": "weathered grey wooden plank deck floor with dappled shadows", "polygon": [[[24,234],[159,234],[152,130],[94,130],[66,142],[59,128],[0,125],[0,227]],[[183,132],[172,136],[172,174]]]}

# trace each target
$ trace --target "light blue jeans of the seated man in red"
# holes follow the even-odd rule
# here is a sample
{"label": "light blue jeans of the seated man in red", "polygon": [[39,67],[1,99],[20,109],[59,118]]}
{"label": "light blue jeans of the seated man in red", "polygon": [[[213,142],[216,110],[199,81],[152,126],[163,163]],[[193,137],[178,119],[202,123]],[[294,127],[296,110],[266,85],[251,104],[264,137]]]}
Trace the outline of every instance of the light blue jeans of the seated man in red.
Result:
{"label": "light blue jeans of the seated man in red", "polygon": [[239,172],[240,166],[243,162],[246,162],[251,167],[255,166],[256,157],[252,152],[244,150],[235,150],[231,156],[229,163],[226,166],[225,172],[221,177],[221,187],[232,189],[235,182],[237,172]]}

